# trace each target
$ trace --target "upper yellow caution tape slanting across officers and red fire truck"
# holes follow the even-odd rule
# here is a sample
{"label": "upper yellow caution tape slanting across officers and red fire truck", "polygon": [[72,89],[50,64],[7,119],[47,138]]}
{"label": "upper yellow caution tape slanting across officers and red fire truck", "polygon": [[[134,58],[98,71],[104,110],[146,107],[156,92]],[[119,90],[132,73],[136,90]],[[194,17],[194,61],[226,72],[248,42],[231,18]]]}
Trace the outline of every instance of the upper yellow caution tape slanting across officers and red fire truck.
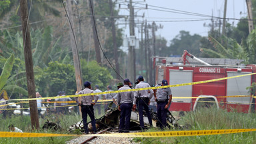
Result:
{"label": "upper yellow caution tape slanting across officers and red fire truck", "polygon": [[249,75],[255,75],[256,73],[249,73],[245,75],[236,75],[232,77],[223,77],[219,79],[210,79],[206,81],[197,81],[193,83],[181,83],[181,84],[176,84],[176,85],[165,85],[165,86],[160,86],[160,87],[145,87],[145,88],[139,88],[139,89],[126,89],[126,90],[119,90],[119,91],[105,91],[101,93],[85,93],[85,94],[80,94],[80,95],[63,95],[63,96],[56,96],[56,97],[41,97],[41,98],[29,98],[29,99],[9,99],[8,101],[29,101],[29,100],[37,100],[37,99],[61,99],[61,98],[67,98],[67,97],[85,97],[85,96],[90,96],[90,95],[104,95],[104,94],[110,94],[110,93],[123,93],[123,92],[128,92],[128,91],[143,91],[143,90],[149,90],[149,89],[163,89],[163,88],[168,88],[168,87],[181,87],[181,86],[187,86],[187,85],[198,85],[202,83],[211,83],[214,81],[223,81],[226,79],[233,79],[237,77],[245,77]]}

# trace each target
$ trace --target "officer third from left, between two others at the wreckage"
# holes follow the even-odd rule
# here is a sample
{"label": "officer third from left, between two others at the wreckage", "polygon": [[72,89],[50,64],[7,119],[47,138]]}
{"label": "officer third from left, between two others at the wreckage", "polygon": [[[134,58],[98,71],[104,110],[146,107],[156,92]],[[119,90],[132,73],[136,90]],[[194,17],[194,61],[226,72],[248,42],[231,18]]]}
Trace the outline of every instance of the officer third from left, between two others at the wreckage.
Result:
{"label": "officer third from left, between two others at the wreckage", "polygon": [[[139,83],[136,85],[135,89],[150,87],[149,83],[144,82],[143,76],[139,76],[138,81]],[[149,124],[150,126],[152,126],[152,119],[149,113],[149,103],[152,96],[153,96],[152,89],[135,91],[134,93],[133,110],[136,109],[136,101],[138,99],[137,105],[138,105],[138,111],[139,111],[139,125],[141,126],[142,129],[145,129],[144,121],[143,121],[143,107],[147,113]]]}

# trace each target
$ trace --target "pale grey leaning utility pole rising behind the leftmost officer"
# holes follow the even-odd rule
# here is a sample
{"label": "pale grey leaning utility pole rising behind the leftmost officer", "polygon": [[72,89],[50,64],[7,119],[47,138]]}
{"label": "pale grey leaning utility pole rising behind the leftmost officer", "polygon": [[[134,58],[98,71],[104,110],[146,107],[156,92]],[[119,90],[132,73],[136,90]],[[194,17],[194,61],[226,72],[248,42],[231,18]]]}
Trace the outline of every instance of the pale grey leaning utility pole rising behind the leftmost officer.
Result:
{"label": "pale grey leaning utility pole rising behind the leftmost officer", "polygon": [[[69,18],[69,36],[70,36],[72,53],[73,53],[74,67],[75,67],[75,81],[77,83],[77,91],[79,92],[83,87],[82,87],[82,80],[81,80],[81,67],[80,67],[78,49],[75,45],[76,37],[75,37],[75,27],[74,27],[73,15],[72,15],[71,1],[72,0],[67,0],[67,17]],[[81,97],[78,97],[78,101],[81,101]],[[81,109],[81,107],[79,107],[79,109]]]}

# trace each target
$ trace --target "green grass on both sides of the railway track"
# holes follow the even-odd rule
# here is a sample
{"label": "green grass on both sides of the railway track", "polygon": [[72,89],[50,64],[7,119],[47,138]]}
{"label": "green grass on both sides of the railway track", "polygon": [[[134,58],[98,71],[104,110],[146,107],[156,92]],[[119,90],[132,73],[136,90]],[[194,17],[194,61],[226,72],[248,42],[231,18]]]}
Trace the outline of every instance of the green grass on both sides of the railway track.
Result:
{"label": "green grass on both sides of the railway track", "polygon": [[[95,112],[97,113],[97,112]],[[101,115],[95,115],[99,118]],[[23,132],[35,133],[63,133],[69,134],[67,129],[70,125],[81,121],[80,115],[47,115],[44,119],[39,119],[40,127],[45,121],[53,121],[62,127],[60,131],[31,131],[30,116],[12,115],[11,117],[3,118],[0,115],[0,131],[9,131],[8,125],[14,124],[15,127],[23,130]],[[88,121],[90,119],[88,118]],[[223,109],[199,109],[196,112],[189,112],[179,120],[179,124],[183,125],[183,130],[205,130],[205,129],[251,129],[256,125],[255,113],[236,113],[227,112]],[[149,129],[148,131],[158,131],[158,129]],[[165,131],[175,131],[166,129]],[[1,143],[65,143],[74,137],[37,137],[37,138],[0,138]],[[190,136],[190,137],[161,137],[161,138],[134,138],[134,142],[142,144],[153,143],[255,143],[256,133],[233,133],[224,135],[205,135],[205,136]]]}

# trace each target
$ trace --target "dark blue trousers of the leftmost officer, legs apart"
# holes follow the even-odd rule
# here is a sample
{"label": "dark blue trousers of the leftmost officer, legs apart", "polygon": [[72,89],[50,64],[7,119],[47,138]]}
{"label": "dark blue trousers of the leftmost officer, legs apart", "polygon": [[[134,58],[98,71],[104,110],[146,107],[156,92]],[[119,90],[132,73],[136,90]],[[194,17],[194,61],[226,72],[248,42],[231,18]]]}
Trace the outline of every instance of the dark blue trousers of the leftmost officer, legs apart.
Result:
{"label": "dark blue trousers of the leftmost officer, legs apart", "polygon": [[93,131],[96,132],[96,121],[94,117],[93,105],[81,105],[81,112],[83,117],[83,128],[85,129],[85,133],[88,133],[87,127],[87,114],[91,118],[91,125],[93,126]]}

